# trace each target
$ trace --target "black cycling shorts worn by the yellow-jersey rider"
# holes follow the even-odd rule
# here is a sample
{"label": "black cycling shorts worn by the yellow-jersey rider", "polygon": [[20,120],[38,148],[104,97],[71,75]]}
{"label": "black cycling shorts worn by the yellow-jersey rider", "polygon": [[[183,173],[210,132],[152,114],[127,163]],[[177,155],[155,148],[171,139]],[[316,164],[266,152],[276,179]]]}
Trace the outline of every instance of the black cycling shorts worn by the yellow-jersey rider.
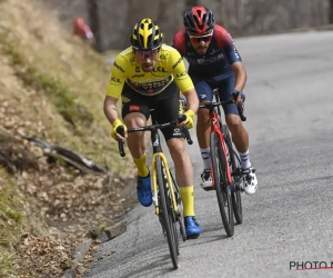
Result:
{"label": "black cycling shorts worn by the yellow-jersey rider", "polygon": [[[164,123],[176,120],[180,112],[179,88],[172,81],[161,93],[157,96],[142,96],[134,91],[129,85],[124,83],[121,101],[122,118],[131,112],[143,113],[148,120],[150,109],[154,109],[158,123]],[[178,127],[167,127],[161,129],[165,141],[171,138],[185,138],[182,130]]]}

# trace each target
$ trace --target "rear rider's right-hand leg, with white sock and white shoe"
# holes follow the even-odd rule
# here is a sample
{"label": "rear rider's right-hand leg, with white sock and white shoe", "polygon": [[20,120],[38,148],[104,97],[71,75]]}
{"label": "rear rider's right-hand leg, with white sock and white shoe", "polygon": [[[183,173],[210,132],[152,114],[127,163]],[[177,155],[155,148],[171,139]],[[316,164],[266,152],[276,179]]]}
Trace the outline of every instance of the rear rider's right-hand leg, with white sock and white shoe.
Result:
{"label": "rear rider's right-hand leg, with white sock and white shoe", "polygon": [[[219,87],[221,100],[230,100],[231,92],[234,89],[235,76],[230,75],[221,82]],[[258,189],[258,179],[249,156],[249,133],[239,117],[238,108],[234,103],[223,106],[225,121],[232,135],[232,141],[238,149],[241,158],[241,167],[245,175],[244,191],[254,193]]]}

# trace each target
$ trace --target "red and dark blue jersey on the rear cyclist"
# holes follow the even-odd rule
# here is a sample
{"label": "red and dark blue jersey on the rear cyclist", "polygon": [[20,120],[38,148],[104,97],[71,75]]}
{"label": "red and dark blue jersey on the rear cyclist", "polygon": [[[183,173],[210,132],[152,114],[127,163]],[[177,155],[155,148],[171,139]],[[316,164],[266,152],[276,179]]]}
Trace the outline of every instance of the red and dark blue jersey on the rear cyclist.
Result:
{"label": "red and dark blue jersey on the rear cyclist", "polygon": [[214,26],[212,40],[204,54],[195,51],[184,28],[174,36],[172,47],[188,60],[190,76],[202,78],[229,76],[232,71],[230,66],[242,61],[232,37],[219,24]]}

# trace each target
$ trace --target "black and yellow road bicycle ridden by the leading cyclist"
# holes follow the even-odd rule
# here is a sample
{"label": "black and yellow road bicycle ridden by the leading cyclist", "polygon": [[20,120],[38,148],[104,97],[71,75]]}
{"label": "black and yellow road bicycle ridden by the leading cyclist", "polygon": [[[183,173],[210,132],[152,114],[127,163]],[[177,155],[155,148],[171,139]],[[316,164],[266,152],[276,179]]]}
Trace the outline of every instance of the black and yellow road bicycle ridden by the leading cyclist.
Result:
{"label": "black and yellow road bicycle ridden by the leading cyclist", "polygon": [[[150,131],[152,143],[152,158],[151,158],[151,179],[152,179],[152,193],[153,203],[155,207],[155,215],[162,225],[164,237],[167,236],[170,256],[174,269],[178,269],[178,256],[179,252],[179,239],[176,231],[176,222],[180,227],[180,234],[183,241],[186,240],[185,227],[183,222],[181,211],[181,195],[179,186],[169,168],[165,155],[162,151],[159,130],[170,126],[176,126],[176,121],[167,123],[157,123],[153,109],[151,109],[152,125],[128,129],[128,132]],[[178,121],[185,120],[185,116],[179,117]],[[176,128],[176,127],[175,127]],[[118,129],[118,133],[123,135],[123,129]],[[193,143],[190,132],[186,128],[183,128],[186,141]],[[123,149],[123,141],[119,142],[119,152],[121,157],[125,156]]]}

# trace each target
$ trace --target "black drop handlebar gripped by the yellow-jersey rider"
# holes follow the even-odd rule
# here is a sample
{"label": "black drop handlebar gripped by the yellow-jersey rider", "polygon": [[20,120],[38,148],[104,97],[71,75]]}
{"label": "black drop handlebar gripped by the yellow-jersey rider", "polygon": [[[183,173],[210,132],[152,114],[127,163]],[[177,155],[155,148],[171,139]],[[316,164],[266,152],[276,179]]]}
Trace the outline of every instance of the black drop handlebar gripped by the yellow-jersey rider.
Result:
{"label": "black drop handlebar gripped by the yellow-jersey rider", "polygon": [[[185,115],[180,115],[178,117],[178,121],[170,121],[170,122],[160,123],[160,125],[158,125],[158,123],[157,125],[150,125],[150,126],[140,127],[140,128],[130,128],[130,129],[128,129],[128,133],[137,132],[137,131],[155,131],[158,129],[167,128],[167,127],[170,127],[170,126],[176,126],[178,122],[182,122],[182,121],[185,121],[185,120],[186,120],[186,116]],[[186,129],[184,127],[183,128],[183,132],[185,135],[188,143],[192,145],[193,141],[191,139],[191,135],[190,135],[189,129]],[[120,126],[120,127],[117,128],[117,133],[119,133],[121,137],[124,137],[124,128],[123,128],[123,126]],[[118,149],[119,149],[119,153],[120,153],[121,157],[125,156],[125,152],[124,152],[124,149],[123,149],[123,145],[124,145],[124,141],[118,140]]]}

